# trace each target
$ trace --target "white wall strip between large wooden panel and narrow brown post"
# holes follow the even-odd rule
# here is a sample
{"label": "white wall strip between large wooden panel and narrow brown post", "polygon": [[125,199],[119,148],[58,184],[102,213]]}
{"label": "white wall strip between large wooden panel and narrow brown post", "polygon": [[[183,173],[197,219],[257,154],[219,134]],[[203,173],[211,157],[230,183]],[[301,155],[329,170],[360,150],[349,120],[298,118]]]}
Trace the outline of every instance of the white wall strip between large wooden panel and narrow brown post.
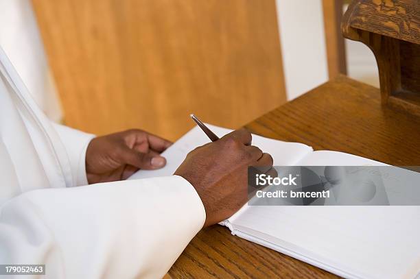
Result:
{"label": "white wall strip between large wooden panel and narrow brown post", "polygon": [[322,0],[276,0],[288,100],[327,82]]}

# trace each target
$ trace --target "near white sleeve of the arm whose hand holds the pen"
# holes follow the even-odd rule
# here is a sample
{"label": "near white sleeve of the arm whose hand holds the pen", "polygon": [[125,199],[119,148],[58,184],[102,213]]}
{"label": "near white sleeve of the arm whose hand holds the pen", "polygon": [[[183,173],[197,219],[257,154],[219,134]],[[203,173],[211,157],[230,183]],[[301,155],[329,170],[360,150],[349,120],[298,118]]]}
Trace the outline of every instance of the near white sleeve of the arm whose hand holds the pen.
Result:
{"label": "near white sleeve of the arm whose hand holds the pen", "polygon": [[0,263],[45,264],[45,278],[162,278],[204,222],[176,175],[30,191],[1,207]]}

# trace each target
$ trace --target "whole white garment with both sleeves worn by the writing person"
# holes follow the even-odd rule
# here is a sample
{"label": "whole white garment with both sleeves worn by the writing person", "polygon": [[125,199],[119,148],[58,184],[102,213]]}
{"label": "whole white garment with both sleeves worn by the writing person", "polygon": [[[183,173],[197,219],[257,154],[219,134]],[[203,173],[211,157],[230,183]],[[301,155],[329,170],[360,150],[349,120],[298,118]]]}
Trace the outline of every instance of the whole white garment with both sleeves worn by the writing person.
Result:
{"label": "whole white garment with both sleeves worn by the writing person", "polygon": [[161,278],[205,222],[200,197],[176,175],[82,186],[91,138],[52,125],[0,48],[0,264]]}

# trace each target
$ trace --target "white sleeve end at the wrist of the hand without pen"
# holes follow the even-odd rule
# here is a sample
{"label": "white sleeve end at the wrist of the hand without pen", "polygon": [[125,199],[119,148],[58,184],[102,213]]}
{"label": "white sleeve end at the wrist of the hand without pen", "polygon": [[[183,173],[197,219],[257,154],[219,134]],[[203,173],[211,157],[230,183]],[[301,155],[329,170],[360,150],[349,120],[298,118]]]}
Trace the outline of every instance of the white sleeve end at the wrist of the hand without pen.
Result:
{"label": "white sleeve end at the wrist of the hand without pen", "polygon": [[71,175],[75,178],[75,186],[87,185],[86,178],[86,149],[95,137],[79,130],[64,125],[53,123],[54,128],[62,143],[65,145],[67,156],[69,156]]}

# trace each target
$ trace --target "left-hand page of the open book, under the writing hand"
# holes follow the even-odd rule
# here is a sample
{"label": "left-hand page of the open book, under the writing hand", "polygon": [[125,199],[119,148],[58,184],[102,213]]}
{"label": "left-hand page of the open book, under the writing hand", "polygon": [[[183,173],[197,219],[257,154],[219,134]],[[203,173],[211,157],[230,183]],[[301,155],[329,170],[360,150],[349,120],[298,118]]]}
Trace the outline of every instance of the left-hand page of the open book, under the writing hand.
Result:
{"label": "left-hand page of the open book, under the writing hand", "polygon": [[[206,124],[219,137],[229,134],[233,130],[220,128],[215,125]],[[152,171],[137,171],[129,180],[140,178],[153,178],[156,176],[172,175],[178,166],[183,162],[189,151],[194,148],[209,143],[209,138],[197,126],[187,132],[171,147],[162,153],[167,160],[167,165],[162,169]],[[271,138],[264,138],[253,134],[253,145],[259,147],[262,151],[271,154],[274,165],[294,165],[303,157],[312,151],[312,147],[302,143],[288,143],[285,141],[277,141]]]}

